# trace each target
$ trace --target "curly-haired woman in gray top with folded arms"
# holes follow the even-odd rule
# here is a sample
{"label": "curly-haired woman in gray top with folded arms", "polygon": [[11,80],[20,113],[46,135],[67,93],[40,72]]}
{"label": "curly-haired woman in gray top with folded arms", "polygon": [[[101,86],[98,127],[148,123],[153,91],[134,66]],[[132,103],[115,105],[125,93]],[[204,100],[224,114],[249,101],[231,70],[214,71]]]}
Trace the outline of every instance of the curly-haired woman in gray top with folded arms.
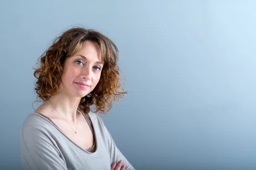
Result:
{"label": "curly-haired woman in gray top with folded arms", "polygon": [[117,59],[116,45],[95,30],[72,28],[54,40],[34,72],[44,103],[20,131],[25,170],[134,169],[96,114],[126,94]]}

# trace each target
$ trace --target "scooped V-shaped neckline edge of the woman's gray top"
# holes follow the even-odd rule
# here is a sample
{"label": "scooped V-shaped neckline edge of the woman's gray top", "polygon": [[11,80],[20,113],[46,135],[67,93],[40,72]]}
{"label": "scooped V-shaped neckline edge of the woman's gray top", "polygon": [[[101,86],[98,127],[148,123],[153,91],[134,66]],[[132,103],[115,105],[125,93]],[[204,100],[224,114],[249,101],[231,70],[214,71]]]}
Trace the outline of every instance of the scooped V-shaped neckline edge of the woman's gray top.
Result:
{"label": "scooped V-shaped neckline edge of the woman's gray top", "polygon": [[[47,116],[45,116],[45,115],[43,115],[43,114],[41,114],[41,113],[37,113],[37,112],[33,112],[33,113],[35,113],[35,114],[37,114],[37,115],[39,115],[39,116],[41,116],[41,117],[43,117],[44,119],[47,119],[52,125],[54,125],[55,127],[56,127],[56,129],[58,129],[67,139],[69,139],[73,144],[75,144],[77,147],[79,147],[81,150],[83,150],[84,152],[87,152],[87,153],[90,153],[90,154],[92,154],[92,155],[94,155],[94,154],[97,154],[98,153],[98,140],[97,140],[97,135],[96,135],[96,131],[95,131],[95,126],[94,126],[94,123],[93,123],[93,121],[92,121],[92,119],[91,119],[91,117],[90,117],[90,113],[88,113],[88,116],[89,116],[89,119],[90,119],[90,121],[91,121],[91,123],[92,123],[92,125],[93,125],[93,129],[90,127],[90,129],[93,131],[93,133],[94,133],[94,138],[95,138],[95,143],[96,143],[96,149],[95,149],[95,152],[89,152],[89,151],[87,151],[87,150],[84,150],[82,147],[80,147],[78,144],[76,144],[76,142],[74,142],[72,139],[70,139],[49,117],[47,117]],[[32,113],[32,114],[33,114]],[[84,115],[84,113],[82,113],[82,115],[84,116],[84,119],[86,120],[86,122],[88,123],[88,121],[87,121],[87,119],[85,118],[85,115]],[[89,124],[89,123],[88,123]],[[91,148],[91,147],[90,147]],[[90,149],[89,148],[89,149]]]}

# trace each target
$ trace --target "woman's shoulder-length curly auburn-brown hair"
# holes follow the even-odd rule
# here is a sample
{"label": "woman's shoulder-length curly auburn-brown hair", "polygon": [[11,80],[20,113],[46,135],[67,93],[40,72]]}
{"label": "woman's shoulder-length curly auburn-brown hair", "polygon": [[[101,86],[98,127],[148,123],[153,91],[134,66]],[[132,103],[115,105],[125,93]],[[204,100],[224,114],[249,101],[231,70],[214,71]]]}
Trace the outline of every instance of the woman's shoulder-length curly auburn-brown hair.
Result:
{"label": "woman's shoulder-length curly auburn-brown hair", "polygon": [[118,102],[127,92],[121,88],[117,65],[118,48],[99,31],[76,27],[55,38],[52,45],[38,59],[39,67],[34,68],[34,76],[37,79],[35,90],[43,101],[57,94],[65,60],[79,51],[82,43],[87,40],[99,45],[104,66],[98,84],[90,95],[82,97],[79,108],[84,113],[89,113],[90,105],[95,105],[94,113],[106,114],[112,108],[112,102]]}

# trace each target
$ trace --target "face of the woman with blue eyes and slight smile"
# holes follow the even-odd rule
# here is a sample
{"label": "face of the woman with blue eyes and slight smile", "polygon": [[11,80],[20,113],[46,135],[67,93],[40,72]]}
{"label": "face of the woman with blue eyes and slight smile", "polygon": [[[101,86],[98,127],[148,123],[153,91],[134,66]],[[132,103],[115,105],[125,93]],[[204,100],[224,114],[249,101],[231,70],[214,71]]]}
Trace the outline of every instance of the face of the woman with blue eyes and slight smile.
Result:
{"label": "face of the woman with blue eyes and slight smile", "polygon": [[99,45],[84,41],[81,50],[66,59],[59,91],[78,97],[86,96],[99,82],[102,68]]}

